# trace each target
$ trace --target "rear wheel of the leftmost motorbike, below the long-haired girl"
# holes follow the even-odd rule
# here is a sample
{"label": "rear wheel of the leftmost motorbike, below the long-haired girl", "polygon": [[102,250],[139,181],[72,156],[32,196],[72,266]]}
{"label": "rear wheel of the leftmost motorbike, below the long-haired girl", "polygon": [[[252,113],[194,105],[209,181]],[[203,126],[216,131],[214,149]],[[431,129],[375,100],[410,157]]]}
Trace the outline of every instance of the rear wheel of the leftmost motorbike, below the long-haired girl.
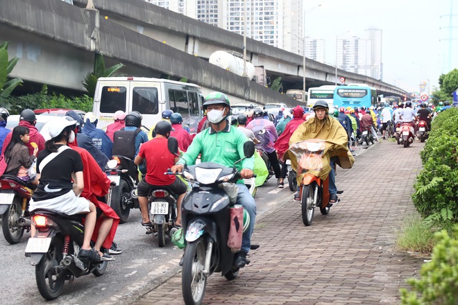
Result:
{"label": "rear wheel of the leftmost motorbike, below the long-haired girl", "polygon": [[21,217],[21,214],[21,203],[15,198],[10,207],[1,216],[3,236],[5,236],[6,241],[11,245],[19,243],[24,234],[24,228],[19,225],[19,217]]}

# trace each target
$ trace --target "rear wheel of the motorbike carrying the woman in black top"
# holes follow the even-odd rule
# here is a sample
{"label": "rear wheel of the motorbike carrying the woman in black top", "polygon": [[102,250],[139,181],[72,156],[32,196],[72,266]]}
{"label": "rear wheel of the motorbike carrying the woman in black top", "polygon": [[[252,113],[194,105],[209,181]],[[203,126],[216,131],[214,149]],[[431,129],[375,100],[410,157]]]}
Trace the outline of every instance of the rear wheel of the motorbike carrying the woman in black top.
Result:
{"label": "rear wheel of the motorbike carrying the woman in black top", "polygon": [[53,238],[46,252],[37,265],[35,265],[35,279],[40,295],[47,300],[56,299],[62,292],[65,274],[56,273],[56,267],[62,260],[62,244],[58,238]]}

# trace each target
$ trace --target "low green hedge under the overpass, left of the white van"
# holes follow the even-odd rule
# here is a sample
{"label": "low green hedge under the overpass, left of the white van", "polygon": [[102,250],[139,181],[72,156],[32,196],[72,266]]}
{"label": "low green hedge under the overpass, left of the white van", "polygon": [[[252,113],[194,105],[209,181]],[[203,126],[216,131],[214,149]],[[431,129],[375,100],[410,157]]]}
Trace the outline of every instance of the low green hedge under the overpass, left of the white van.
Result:
{"label": "low green hedge under the overpass, left of the white van", "polygon": [[43,85],[42,90],[35,94],[26,94],[24,96],[10,96],[9,98],[11,114],[19,114],[24,109],[43,109],[43,108],[69,108],[92,111],[93,99],[90,96],[64,96],[62,94],[48,93],[48,87]]}

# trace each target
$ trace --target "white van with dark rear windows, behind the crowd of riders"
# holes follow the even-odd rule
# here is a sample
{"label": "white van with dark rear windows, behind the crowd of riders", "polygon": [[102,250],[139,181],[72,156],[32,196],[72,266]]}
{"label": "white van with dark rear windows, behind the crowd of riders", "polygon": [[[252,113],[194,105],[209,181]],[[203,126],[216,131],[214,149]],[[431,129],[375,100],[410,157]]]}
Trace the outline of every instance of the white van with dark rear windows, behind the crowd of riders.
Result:
{"label": "white van with dark rear windows, behind the crowd of riders", "polygon": [[99,118],[97,128],[113,123],[114,112],[142,114],[142,125],[151,128],[160,121],[162,111],[173,110],[183,116],[183,125],[192,133],[202,119],[203,95],[198,85],[160,78],[99,78],[92,112]]}

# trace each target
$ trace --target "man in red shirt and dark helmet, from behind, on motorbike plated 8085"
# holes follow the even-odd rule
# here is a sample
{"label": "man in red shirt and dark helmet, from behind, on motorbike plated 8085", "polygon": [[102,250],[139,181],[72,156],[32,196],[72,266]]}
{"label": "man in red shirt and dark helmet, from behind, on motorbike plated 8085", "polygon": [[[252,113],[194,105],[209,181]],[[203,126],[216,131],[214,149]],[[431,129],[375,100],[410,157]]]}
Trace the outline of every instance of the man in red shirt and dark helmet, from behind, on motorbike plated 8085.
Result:
{"label": "man in red shirt and dark helmet, from behind, on motorbike plated 8085", "polygon": [[151,225],[148,194],[154,186],[167,186],[174,194],[178,195],[175,225],[176,227],[181,226],[181,202],[185,198],[187,186],[175,175],[164,175],[168,168],[178,162],[178,157],[171,154],[167,148],[167,139],[171,131],[172,127],[168,121],[159,121],[155,125],[156,137],[143,143],[137,157],[135,157],[134,162],[137,165],[142,164],[143,160],[146,159],[146,175],[137,187],[138,202],[142,209],[142,225],[144,226]]}

